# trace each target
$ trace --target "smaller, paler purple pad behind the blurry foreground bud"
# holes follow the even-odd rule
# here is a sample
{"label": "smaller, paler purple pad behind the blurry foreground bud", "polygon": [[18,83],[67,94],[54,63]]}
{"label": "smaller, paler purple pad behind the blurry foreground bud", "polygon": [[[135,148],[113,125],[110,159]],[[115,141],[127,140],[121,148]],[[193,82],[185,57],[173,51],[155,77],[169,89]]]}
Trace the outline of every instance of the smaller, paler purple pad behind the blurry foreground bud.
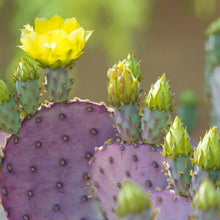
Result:
{"label": "smaller, paler purple pad behind the blurry foreground bud", "polygon": [[109,220],[116,219],[117,196],[125,180],[136,182],[146,191],[166,188],[163,161],[161,148],[154,145],[114,143],[99,148],[91,164],[91,181]]}

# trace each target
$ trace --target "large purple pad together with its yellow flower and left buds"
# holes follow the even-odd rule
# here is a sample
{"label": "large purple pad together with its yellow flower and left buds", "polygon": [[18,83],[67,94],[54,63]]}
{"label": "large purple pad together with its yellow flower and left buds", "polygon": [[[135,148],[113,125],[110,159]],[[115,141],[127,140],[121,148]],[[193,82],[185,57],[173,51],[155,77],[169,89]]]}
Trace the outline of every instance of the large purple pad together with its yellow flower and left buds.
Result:
{"label": "large purple pad together with its yellow flower and left buds", "polygon": [[[6,131],[14,134],[5,144],[0,172],[1,199],[9,220],[103,219],[92,197],[88,162],[95,146],[115,138],[110,110],[88,100],[67,100],[72,85],[69,69],[83,54],[91,33],[75,18],[60,16],[37,18],[35,29],[31,25],[22,29],[20,47],[45,69],[47,93],[56,104],[39,103],[39,76],[26,60],[15,73],[18,99],[13,100],[27,114],[21,116],[23,111],[14,108],[15,101],[12,105],[5,84],[0,84],[4,89],[0,122],[5,119]],[[25,119],[21,128],[11,131],[15,116],[18,122]],[[1,122],[0,128],[5,124]]]}

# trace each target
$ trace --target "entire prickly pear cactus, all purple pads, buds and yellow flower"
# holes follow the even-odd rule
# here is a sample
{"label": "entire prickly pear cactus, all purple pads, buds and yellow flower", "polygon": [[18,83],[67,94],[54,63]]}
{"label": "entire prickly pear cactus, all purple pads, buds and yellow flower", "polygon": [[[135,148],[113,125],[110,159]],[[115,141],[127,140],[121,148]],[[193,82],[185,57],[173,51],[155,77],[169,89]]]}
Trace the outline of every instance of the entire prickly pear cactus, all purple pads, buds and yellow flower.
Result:
{"label": "entire prickly pear cactus, all purple pads, buds and yellow flower", "polygon": [[[218,25],[211,35],[219,35]],[[15,73],[17,95],[0,80],[0,129],[12,134],[5,139],[0,133],[0,194],[8,220],[219,219],[217,127],[192,155],[180,119],[170,126],[173,102],[165,75],[142,110],[142,71],[130,53],[108,71],[112,109],[68,101],[71,68],[91,34],[75,18],[60,16],[37,18],[34,27],[22,29],[19,47],[44,68],[54,103],[39,102],[39,75],[26,60]],[[216,45],[219,36],[210,36],[209,73],[220,63]],[[218,87],[210,89],[213,103]],[[212,182],[203,184],[205,178]]]}

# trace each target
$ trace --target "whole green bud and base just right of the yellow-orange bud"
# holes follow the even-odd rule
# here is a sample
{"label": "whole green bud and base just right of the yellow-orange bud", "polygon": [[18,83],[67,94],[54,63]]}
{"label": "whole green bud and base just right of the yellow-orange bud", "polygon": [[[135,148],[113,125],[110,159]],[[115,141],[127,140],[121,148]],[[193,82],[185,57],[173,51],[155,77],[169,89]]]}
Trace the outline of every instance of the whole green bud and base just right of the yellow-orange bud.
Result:
{"label": "whole green bud and base just right of the yellow-orange bud", "polygon": [[142,138],[148,144],[161,145],[171,124],[172,94],[166,75],[152,85],[144,100],[141,123]]}

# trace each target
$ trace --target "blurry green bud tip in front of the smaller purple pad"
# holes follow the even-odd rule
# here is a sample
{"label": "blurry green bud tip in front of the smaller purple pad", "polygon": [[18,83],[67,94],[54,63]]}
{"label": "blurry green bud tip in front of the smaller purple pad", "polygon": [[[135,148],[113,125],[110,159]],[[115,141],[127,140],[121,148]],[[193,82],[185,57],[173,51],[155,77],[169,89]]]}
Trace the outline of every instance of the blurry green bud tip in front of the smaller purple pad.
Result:
{"label": "blurry green bud tip in front of the smaller purple pad", "polygon": [[152,207],[149,195],[138,185],[125,181],[118,195],[117,216],[140,215]]}

